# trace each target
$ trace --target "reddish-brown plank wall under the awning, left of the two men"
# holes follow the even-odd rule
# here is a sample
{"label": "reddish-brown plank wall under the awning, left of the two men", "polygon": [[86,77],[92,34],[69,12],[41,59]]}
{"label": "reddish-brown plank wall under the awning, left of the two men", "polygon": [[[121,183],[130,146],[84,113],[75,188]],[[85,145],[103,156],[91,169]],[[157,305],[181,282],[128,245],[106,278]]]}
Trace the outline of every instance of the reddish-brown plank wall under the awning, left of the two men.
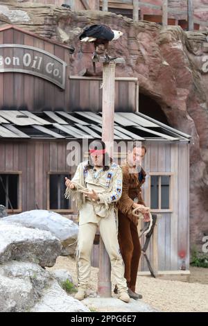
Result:
{"label": "reddish-brown plank wall under the awning, left of the two men", "polygon": [[[74,172],[67,166],[67,141],[1,141],[0,151],[0,174],[21,171],[23,212],[47,209],[49,172]],[[73,209],[76,212],[75,206]]]}

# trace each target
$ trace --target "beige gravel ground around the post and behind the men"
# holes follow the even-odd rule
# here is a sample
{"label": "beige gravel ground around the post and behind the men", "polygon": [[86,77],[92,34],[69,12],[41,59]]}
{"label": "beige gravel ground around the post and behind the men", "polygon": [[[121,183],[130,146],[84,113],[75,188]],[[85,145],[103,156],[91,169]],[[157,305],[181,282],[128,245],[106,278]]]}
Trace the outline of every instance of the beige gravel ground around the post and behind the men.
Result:
{"label": "beige gravel ground around the post and behind the men", "polygon": [[[76,263],[71,257],[58,257],[55,266],[49,270],[66,268],[76,279]],[[90,292],[96,293],[98,268],[92,268],[89,282]],[[203,311],[208,312],[208,270],[191,268],[191,282],[167,281],[151,277],[137,277],[137,292],[142,301],[159,311]],[[96,299],[95,299],[96,300]]]}

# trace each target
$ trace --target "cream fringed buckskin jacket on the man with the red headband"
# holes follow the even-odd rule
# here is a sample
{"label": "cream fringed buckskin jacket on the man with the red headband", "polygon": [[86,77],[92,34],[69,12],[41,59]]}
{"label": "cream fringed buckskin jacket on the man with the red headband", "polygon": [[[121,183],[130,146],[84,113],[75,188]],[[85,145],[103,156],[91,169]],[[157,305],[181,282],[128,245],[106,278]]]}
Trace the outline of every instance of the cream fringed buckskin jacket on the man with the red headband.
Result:
{"label": "cream fringed buckskin jacket on the man with the red headband", "polygon": [[86,166],[87,161],[80,163],[71,181],[85,189],[94,189],[99,200],[86,199],[78,189],[67,188],[64,194],[65,198],[76,201],[79,224],[98,223],[101,218],[107,218],[110,214],[117,218],[115,203],[121,198],[122,193],[121,167],[113,162],[109,170],[101,169],[96,172],[94,169],[87,169]]}

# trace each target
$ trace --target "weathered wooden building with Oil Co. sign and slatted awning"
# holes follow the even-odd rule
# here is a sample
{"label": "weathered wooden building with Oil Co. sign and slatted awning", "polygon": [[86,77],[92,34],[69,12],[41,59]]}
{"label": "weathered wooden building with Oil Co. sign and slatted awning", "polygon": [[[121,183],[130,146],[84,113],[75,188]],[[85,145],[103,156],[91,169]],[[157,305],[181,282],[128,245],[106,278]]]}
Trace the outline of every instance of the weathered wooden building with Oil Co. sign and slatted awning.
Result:
{"label": "weathered wooden building with Oil Co. sign and slatted awning", "polygon": [[[101,80],[69,78],[70,49],[57,42],[14,26],[1,28],[0,40],[0,204],[10,214],[37,208],[73,216],[64,177],[76,166],[67,157],[73,141],[83,160],[83,139],[101,138]],[[188,270],[190,137],[138,111],[136,78],[118,78],[115,93],[114,139],[147,146],[144,199],[159,216],[150,260],[159,271]]]}

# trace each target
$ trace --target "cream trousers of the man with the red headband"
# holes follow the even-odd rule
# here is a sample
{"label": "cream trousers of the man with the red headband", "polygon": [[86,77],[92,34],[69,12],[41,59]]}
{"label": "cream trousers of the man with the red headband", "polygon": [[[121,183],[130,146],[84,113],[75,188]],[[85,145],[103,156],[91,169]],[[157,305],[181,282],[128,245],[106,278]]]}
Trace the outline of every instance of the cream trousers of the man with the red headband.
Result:
{"label": "cream trousers of the man with the red headband", "polygon": [[[127,291],[124,278],[124,264],[119,250],[117,228],[114,214],[101,218],[99,222],[100,234],[110,257],[112,276],[119,292]],[[96,234],[96,223],[85,223],[79,226],[78,232],[78,286],[86,288],[89,282],[91,269],[91,252]]]}

